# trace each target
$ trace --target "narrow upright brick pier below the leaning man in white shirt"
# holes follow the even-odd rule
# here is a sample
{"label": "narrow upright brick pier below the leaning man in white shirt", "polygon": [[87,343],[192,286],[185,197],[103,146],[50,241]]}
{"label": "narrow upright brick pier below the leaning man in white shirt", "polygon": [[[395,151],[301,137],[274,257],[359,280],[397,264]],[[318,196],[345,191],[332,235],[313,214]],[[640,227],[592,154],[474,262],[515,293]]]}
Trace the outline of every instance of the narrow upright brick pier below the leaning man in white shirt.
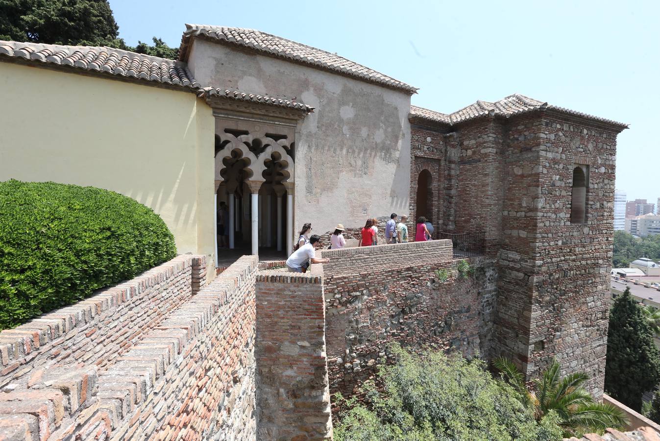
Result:
{"label": "narrow upright brick pier below the leaning man in white shirt", "polygon": [[259,440],[332,438],[319,267],[257,276]]}

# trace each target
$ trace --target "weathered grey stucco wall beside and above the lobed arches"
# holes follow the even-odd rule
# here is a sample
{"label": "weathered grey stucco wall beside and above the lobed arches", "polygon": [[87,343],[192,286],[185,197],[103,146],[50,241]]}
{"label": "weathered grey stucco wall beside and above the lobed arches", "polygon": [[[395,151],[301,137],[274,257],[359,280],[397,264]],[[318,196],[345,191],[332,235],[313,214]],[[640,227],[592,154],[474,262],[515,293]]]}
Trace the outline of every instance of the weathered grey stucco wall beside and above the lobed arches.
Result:
{"label": "weathered grey stucco wall beside and above the lobed arches", "polygon": [[296,135],[296,228],[312,222],[320,234],[337,222],[407,214],[409,94],[199,39],[188,65],[201,84],[316,108]]}

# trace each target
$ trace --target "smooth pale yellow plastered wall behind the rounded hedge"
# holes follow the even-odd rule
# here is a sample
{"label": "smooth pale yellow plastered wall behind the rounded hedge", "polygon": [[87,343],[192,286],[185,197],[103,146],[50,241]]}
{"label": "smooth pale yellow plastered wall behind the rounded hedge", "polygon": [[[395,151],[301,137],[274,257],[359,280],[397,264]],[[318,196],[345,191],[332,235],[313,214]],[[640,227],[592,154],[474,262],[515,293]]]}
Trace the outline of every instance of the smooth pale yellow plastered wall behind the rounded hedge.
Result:
{"label": "smooth pale yellow plastered wall behind the rounded hedge", "polygon": [[154,209],[179,253],[209,263],[214,130],[191,92],[0,62],[0,181],[117,191]]}

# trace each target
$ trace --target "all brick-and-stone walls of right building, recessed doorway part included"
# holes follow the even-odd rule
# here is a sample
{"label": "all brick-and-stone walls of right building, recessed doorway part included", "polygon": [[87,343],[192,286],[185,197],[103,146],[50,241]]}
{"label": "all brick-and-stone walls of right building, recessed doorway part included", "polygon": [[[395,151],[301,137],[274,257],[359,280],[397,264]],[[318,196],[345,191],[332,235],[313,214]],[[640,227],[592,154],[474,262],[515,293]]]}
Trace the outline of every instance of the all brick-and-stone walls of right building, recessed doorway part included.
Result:
{"label": "all brick-and-stone walls of right building, recessed doorway part included", "polygon": [[[620,127],[550,111],[449,127],[411,119],[411,163],[437,158],[444,230],[484,232],[497,257],[496,353],[535,376],[556,356],[603,393],[607,273]],[[572,224],[572,172],[587,168],[586,222]],[[444,172],[442,169],[444,168]],[[416,189],[411,176],[411,213]]]}

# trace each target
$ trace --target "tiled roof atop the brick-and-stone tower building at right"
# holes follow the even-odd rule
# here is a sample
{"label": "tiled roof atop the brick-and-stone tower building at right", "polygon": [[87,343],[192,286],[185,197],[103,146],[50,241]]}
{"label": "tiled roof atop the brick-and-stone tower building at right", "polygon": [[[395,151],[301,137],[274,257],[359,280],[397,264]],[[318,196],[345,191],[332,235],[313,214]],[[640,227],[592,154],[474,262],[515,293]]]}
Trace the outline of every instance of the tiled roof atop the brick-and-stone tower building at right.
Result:
{"label": "tiled roof atop the brick-and-stone tower building at right", "polygon": [[599,118],[597,116],[583,114],[581,112],[576,112],[575,110],[569,110],[558,106],[550,106],[547,102],[528,98],[527,96],[521,94],[513,94],[496,102],[477,101],[474,104],[470,104],[469,106],[462,108],[461,110],[457,110],[456,112],[453,112],[449,115],[441,114],[439,112],[434,112],[433,110],[428,110],[417,106],[411,106],[410,116],[411,118],[421,118],[427,119],[429,121],[445,123],[447,125],[456,125],[458,123],[469,121],[471,119],[482,118],[488,115],[500,116],[502,118],[511,118],[512,116],[525,114],[527,112],[546,109],[555,110],[556,112],[562,112],[572,116],[591,119],[593,121],[599,121],[601,123],[615,125],[616,127],[628,127],[627,124],[612,121],[611,119]]}

